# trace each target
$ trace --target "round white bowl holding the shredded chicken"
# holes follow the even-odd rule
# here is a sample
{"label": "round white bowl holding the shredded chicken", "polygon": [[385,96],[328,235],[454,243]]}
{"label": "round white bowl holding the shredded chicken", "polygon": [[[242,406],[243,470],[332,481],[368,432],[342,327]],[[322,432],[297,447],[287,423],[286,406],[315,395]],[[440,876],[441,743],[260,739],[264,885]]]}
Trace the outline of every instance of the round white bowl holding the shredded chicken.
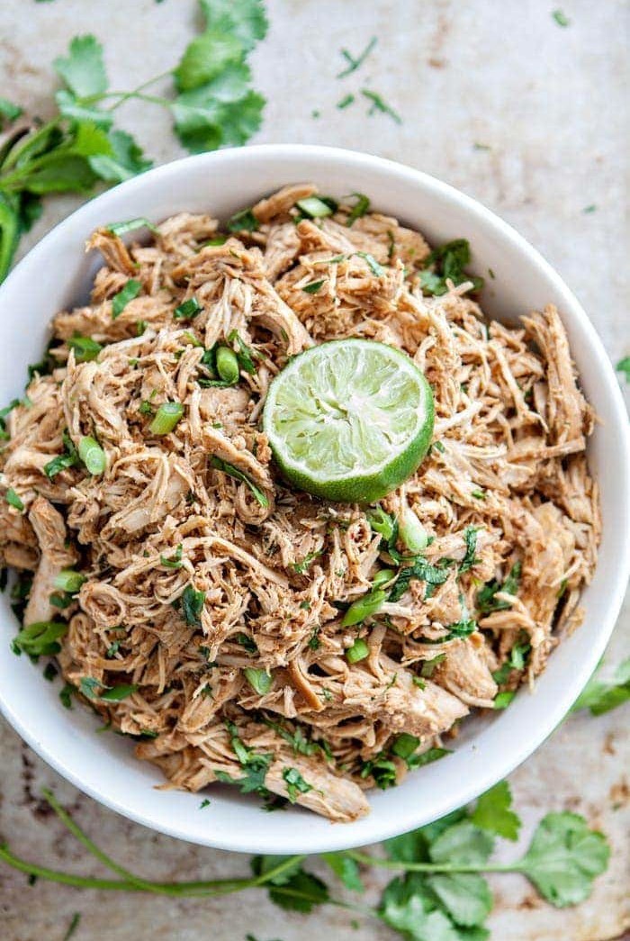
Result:
{"label": "round white bowl holding the shredded chicken", "polygon": [[268,814],[256,797],[212,789],[200,796],[156,790],[160,772],[137,761],[133,743],[95,735],[89,710],[63,708],[58,684],[41,665],[15,657],[16,623],[0,596],[0,707],[39,755],[77,788],[119,813],[173,837],[246,853],[318,853],[375,842],[433,821],[464,805],[528,758],[559,724],[599,661],[622,604],[630,543],[630,486],[626,415],[615,375],[589,318],[575,296],[520,235],[480,203],[409,167],[363,153],[324,147],[271,145],[202,154],[122,183],[46,235],[0,289],[0,404],[24,389],[26,364],[40,359],[48,322],[87,299],[100,259],[86,256],[89,233],[107,222],[145,215],[159,222],[181,210],[226,218],[283,183],[313,181],[340,196],[362,192],[372,205],[424,232],[433,243],[470,240],[473,268],[488,283],[486,311],[513,320],[555,303],[571,342],[586,394],[601,420],[589,444],[591,471],[601,489],[604,534],[599,564],[584,592],[586,619],[550,658],[535,692],[523,690],[491,721],[463,726],[455,753],[409,774],[395,789],[370,793],[363,820],[331,825],[305,810]]}

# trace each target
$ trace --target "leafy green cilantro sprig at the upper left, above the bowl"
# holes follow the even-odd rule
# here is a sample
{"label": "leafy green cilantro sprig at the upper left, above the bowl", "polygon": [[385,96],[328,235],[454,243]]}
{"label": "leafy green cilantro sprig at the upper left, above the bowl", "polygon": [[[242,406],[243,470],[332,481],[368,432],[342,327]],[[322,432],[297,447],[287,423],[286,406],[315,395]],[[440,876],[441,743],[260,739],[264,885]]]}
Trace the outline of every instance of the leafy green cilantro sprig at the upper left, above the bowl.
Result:
{"label": "leafy green cilantro sprig at the upper left, above the bowl", "polygon": [[[267,32],[263,0],[199,0],[203,30],[174,68],[128,91],[113,91],[95,36],[75,36],[53,63],[61,88],[57,113],[30,129],[10,125],[23,110],[0,99],[8,134],[0,150],[0,281],[20,237],[51,193],[89,193],[100,183],[120,183],[152,166],[128,131],[115,126],[118,108],[136,100],[165,108],[173,131],[191,153],[244,144],[260,128],[265,100],[251,88],[247,57]],[[151,86],[170,77],[170,95]]]}

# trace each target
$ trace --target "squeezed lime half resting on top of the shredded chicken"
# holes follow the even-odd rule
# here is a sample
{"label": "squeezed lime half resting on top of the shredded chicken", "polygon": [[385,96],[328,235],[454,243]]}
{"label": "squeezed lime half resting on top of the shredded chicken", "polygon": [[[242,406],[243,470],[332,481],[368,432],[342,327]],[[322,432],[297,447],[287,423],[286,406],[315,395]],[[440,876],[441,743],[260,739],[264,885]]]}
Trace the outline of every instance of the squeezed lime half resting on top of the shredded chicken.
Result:
{"label": "squeezed lime half resting on top of the shredded chicken", "polygon": [[372,340],[312,346],[271,384],[262,423],[296,487],[371,503],[417,469],[433,435],[433,392],[400,350]]}

